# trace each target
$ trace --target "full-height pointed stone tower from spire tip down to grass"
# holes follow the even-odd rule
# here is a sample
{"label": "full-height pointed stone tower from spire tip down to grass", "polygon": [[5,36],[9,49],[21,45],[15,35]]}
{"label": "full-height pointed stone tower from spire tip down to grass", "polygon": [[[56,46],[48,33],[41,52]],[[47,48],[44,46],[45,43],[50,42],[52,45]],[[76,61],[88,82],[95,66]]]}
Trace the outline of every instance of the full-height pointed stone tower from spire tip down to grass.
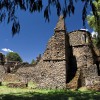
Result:
{"label": "full-height pointed stone tower from spire tip down to grass", "polygon": [[54,29],[54,35],[48,41],[47,48],[36,66],[40,72],[37,75],[40,88],[66,88],[67,45],[65,21],[63,16],[60,16]]}

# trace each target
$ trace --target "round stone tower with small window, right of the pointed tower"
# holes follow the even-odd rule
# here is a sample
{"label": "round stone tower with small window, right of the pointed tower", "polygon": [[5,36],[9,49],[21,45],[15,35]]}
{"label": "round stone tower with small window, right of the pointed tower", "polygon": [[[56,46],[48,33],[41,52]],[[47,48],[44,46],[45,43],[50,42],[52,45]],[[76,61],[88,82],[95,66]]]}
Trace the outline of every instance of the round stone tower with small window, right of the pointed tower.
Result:
{"label": "round stone tower with small window, right of the pointed tower", "polygon": [[98,76],[90,33],[85,30],[70,32],[69,42],[73,55],[71,60],[74,61],[72,66],[76,67],[76,74],[68,85],[73,84],[75,88],[86,86],[88,77],[92,79],[92,76]]}

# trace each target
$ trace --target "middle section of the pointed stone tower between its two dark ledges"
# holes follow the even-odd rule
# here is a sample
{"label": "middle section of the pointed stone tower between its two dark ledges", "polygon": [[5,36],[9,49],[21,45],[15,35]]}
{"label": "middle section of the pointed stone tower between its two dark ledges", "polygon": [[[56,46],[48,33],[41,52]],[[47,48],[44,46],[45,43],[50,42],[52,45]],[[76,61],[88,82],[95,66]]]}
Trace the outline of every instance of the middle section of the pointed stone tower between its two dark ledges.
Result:
{"label": "middle section of the pointed stone tower between its two dark ledges", "polygon": [[44,60],[65,60],[65,34],[56,32],[49,40]]}

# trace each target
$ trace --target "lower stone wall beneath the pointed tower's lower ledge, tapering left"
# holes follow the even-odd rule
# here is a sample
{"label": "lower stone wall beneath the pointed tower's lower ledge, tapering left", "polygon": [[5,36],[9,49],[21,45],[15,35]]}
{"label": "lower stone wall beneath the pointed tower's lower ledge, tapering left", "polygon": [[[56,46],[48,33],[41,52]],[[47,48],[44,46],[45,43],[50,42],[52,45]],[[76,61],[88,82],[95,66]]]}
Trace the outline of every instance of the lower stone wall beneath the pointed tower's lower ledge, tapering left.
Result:
{"label": "lower stone wall beneath the pointed tower's lower ledge, tapering left", "polygon": [[[41,60],[36,66],[19,67],[16,75],[33,81],[38,88],[66,88],[66,61]],[[62,67],[64,66],[64,67]]]}

